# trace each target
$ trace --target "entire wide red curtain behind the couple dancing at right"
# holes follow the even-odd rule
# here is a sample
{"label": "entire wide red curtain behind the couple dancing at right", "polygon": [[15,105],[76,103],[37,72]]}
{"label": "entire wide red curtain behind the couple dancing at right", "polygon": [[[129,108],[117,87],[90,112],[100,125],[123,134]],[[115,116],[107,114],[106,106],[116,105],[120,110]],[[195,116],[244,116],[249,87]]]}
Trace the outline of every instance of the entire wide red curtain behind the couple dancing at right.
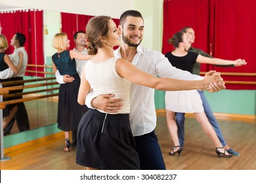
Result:
{"label": "entire wide red curtain behind the couple dancing at right", "polygon": [[[232,73],[255,73],[253,62],[253,33],[256,31],[256,14],[253,0],[164,0],[163,48],[165,54],[173,50],[167,39],[182,27],[193,27],[196,33],[194,47],[215,58],[244,58],[243,67],[215,67],[202,64],[201,71],[211,69]],[[249,45],[249,46],[248,46]],[[250,46],[251,45],[251,46]],[[224,80],[256,81],[255,76],[224,76]],[[255,85],[226,84],[228,89],[255,90]]]}

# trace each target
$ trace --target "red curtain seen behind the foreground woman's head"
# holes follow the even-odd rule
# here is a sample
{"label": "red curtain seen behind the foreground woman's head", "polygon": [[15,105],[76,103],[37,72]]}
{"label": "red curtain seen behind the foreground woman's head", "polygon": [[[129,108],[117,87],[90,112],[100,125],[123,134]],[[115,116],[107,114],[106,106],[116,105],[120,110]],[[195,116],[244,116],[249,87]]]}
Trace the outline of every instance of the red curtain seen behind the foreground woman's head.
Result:
{"label": "red curtain seen behind the foreground woman's head", "polygon": [[[75,32],[85,31],[86,25],[92,17],[84,14],[61,13],[62,32],[66,33],[70,39],[70,49],[75,47],[75,42],[72,41]],[[112,20],[119,25],[119,19],[112,18]]]}

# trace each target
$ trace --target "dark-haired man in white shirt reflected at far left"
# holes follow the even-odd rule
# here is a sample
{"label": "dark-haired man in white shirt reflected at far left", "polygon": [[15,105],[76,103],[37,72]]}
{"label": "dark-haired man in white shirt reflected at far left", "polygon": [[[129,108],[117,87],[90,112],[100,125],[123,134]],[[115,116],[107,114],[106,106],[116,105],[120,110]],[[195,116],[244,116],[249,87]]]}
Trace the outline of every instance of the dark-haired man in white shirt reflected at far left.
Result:
{"label": "dark-haired man in white shirt reflected at far left", "polygon": [[[12,37],[10,45],[14,47],[14,52],[9,56],[12,62],[14,63],[14,65],[17,66],[19,62],[18,52],[22,52],[23,53],[22,67],[20,68],[20,72],[18,72],[17,74],[14,74],[12,72],[12,69],[10,68],[5,69],[4,71],[0,72],[1,79],[9,78],[10,81],[23,80],[23,76],[25,75],[26,67],[28,64],[28,54],[24,47],[25,42],[26,42],[26,36],[22,33],[15,33],[14,36]],[[15,90],[13,93],[19,93],[22,91],[23,90]],[[13,97],[12,99],[22,99],[22,96]],[[17,106],[18,106],[18,112],[16,112],[15,118],[17,121],[18,129],[20,131],[25,131],[30,129],[30,124],[28,122],[28,112],[26,110],[24,103],[18,103]],[[5,135],[8,135],[11,133],[12,125],[14,124],[14,122],[15,122],[15,119],[12,118],[11,122],[5,128]]]}

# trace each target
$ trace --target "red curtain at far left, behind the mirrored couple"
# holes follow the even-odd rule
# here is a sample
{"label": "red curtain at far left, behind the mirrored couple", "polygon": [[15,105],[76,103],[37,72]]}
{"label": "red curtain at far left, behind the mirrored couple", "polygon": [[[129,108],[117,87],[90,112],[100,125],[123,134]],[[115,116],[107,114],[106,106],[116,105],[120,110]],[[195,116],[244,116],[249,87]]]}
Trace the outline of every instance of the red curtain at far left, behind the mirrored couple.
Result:
{"label": "red curtain at far left, behind the mirrored couple", "polygon": [[[17,32],[26,36],[24,44],[28,52],[28,64],[43,65],[43,11],[41,10],[16,10],[12,12],[0,12],[1,34],[7,37],[9,44],[13,35]],[[9,46],[7,54],[11,54],[14,48]],[[28,67],[35,70],[35,67]],[[43,68],[36,68],[43,71]],[[26,73],[27,76],[35,76],[35,73]],[[37,74],[37,76],[44,76]]]}

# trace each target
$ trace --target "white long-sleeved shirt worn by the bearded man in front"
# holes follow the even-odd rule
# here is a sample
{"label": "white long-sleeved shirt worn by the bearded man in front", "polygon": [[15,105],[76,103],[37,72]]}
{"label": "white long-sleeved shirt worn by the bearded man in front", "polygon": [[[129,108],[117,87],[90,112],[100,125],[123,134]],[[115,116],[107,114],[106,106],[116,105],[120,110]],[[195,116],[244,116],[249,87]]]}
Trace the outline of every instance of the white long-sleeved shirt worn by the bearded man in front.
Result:
{"label": "white long-sleeved shirt worn by the bearded man in front", "polygon": [[[121,58],[120,47],[115,50],[115,56]],[[202,76],[192,75],[188,71],[177,69],[169,63],[163,54],[143,46],[137,47],[137,54],[131,62],[138,69],[153,75],[180,80],[202,80]],[[156,127],[156,108],[154,104],[154,89],[138,84],[131,84],[131,113],[129,115],[133,136],[152,132]],[[111,94],[111,93],[110,93]],[[87,95],[85,104],[91,107],[93,95]]]}

